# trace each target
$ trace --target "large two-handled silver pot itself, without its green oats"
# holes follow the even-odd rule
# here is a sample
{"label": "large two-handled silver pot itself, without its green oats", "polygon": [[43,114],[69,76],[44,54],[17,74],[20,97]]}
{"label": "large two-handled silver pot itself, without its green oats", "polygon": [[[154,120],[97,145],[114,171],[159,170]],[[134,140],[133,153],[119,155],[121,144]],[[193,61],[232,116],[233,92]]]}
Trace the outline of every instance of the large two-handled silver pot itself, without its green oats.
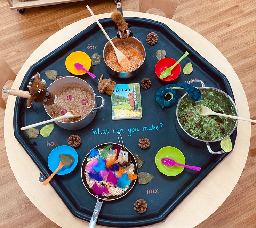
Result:
{"label": "large two-handled silver pot itself, without its green oats", "polygon": [[[213,88],[213,87],[206,87],[205,84],[203,83],[203,81],[201,80],[192,80],[190,82],[188,82],[189,84],[193,83],[193,82],[200,82],[202,84],[202,87],[197,87],[198,89],[201,90],[202,92],[202,97],[208,98],[210,100],[213,100],[215,103],[217,103],[218,105],[220,105],[225,114],[229,114],[229,110],[227,108],[231,107],[234,112],[236,113],[236,116],[238,116],[238,110],[237,110],[237,106],[235,105],[234,101],[232,100],[232,98],[227,95],[225,92],[223,92],[220,89],[217,88]],[[179,135],[187,142],[189,142],[190,144],[194,145],[194,146],[207,146],[207,149],[209,150],[210,153],[212,154],[222,154],[225,153],[224,150],[220,150],[220,151],[213,151],[210,147],[210,143],[211,142],[218,142],[221,141],[222,139],[230,136],[235,128],[237,127],[237,122],[238,120],[233,120],[233,119],[228,119],[228,133],[225,137],[223,137],[222,139],[218,139],[218,140],[214,140],[214,141],[207,141],[207,140],[202,140],[202,139],[198,139],[195,138],[193,136],[191,136],[188,132],[186,132],[181,123],[179,122],[179,118],[178,118],[178,108],[179,105],[181,104],[182,99],[187,95],[187,93],[185,93],[181,99],[179,99],[179,102],[177,104],[177,108],[176,108],[176,120],[175,120],[175,126],[176,129],[179,133]]]}

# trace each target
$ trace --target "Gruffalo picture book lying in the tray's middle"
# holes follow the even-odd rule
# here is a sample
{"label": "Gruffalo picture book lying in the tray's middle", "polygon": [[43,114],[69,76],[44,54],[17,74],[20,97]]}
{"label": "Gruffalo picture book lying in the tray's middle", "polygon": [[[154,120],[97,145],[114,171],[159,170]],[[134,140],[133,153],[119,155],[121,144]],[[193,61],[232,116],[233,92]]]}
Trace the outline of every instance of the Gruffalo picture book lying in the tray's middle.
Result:
{"label": "Gruffalo picture book lying in the tray's middle", "polygon": [[112,120],[141,119],[139,83],[116,85],[111,96]]}

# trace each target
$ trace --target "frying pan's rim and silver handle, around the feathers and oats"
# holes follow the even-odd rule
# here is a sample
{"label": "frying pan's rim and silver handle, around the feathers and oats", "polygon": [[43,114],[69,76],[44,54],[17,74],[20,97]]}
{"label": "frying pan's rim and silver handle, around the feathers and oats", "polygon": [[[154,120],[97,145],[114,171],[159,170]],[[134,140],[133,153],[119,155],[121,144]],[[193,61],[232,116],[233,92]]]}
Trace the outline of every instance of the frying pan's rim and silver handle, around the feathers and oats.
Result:
{"label": "frying pan's rim and silver handle, around the feathers and oats", "polygon": [[[103,148],[104,146],[106,145],[109,145],[109,144],[116,144],[116,145],[120,145],[121,144],[118,144],[118,143],[114,143],[114,142],[107,142],[107,143],[104,143],[104,144],[101,144],[101,145],[98,145],[96,147],[94,147],[95,149],[99,149],[99,148]],[[131,156],[131,161],[132,163],[134,164],[134,173],[138,174],[138,168],[137,168],[137,164],[136,164],[136,161],[135,161],[135,158],[133,156],[133,154],[130,152],[130,150],[128,150],[126,147],[124,146],[121,146],[121,149],[122,150],[125,150],[127,151],[130,156]],[[111,200],[116,200],[116,199],[120,199],[122,198],[123,196],[125,196],[127,193],[130,192],[130,190],[133,188],[134,184],[135,184],[135,180],[131,180],[131,183],[129,185],[129,187],[126,189],[125,192],[123,192],[121,195],[119,196],[110,196],[110,197],[105,197],[105,196],[101,196],[101,195],[96,195],[95,193],[93,193],[92,189],[90,189],[89,185],[87,184],[87,181],[86,181],[86,177],[85,177],[85,166],[87,165],[88,161],[87,161],[87,158],[89,156],[90,152],[86,155],[85,157],[85,160],[83,160],[83,164],[82,164],[82,168],[81,168],[81,177],[82,177],[82,181],[83,181],[83,185],[85,186],[85,188],[87,189],[87,191],[93,195],[95,198],[97,198],[97,202],[96,202],[96,205],[95,205],[95,208],[94,208],[94,212],[93,212],[93,215],[91,216],[91,220],[90,220],[90,223],[89,223],[89,226],[90,228],[94,228],[95,225],[96,225],[96,222],[97,222],[97,219],[98,219],[98,216],[99,216],[99,211],[101,210],[101,206],[103,204],[103,201],[111,201]]]}

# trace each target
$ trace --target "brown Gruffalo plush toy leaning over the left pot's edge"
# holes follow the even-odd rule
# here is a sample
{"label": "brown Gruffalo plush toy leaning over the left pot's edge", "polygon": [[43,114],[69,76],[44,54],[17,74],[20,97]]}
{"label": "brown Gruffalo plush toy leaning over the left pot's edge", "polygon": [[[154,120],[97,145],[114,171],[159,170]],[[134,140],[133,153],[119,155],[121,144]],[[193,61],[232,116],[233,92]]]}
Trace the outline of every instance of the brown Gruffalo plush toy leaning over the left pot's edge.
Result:
{"label": "brown Gruffalo plush toy leaning over the left pot's edge", "polygon": [[45,105],[52,105],[54,103],[55,95],[46,90],[46,81],[40,81],[40,74],[34,74],[27,84],[29,88],[30,97],[27,100],[27,108],[31,107],[33,101],[43,103]]}

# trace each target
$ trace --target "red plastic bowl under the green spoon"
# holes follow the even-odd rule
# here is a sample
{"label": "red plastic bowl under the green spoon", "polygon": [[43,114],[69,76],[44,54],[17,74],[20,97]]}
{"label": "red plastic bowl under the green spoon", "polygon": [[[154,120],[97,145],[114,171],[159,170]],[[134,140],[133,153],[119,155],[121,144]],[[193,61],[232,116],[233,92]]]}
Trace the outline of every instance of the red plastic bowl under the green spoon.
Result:
{"label": "red plastic bowl under the green spoon", "polygon": [[172,81],[174,79],[176,79],[179,74],[181,73],[181,66],[179,64],[177,64],[173,70],[171,71],[171,74],[169,76],[167,76],[164,79],[160,78],[160,74],[168,67],[171,67],[173,64],[175,64],[177,62],[177,60],[172,59],[172,58],[163,58],[160,59],[157,64],[155,64],[155,74],[158,76],[158,78],[162,81]]}

